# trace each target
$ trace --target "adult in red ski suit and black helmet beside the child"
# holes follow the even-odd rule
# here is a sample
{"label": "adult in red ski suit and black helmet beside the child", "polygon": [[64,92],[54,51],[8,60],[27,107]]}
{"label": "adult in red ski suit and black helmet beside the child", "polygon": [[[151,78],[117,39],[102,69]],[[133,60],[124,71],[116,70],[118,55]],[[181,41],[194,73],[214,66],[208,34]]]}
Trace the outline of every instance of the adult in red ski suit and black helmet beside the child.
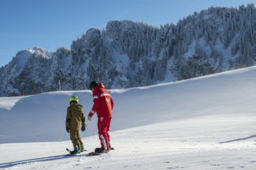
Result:
{"label": "adult in red ski suit and black helmet beside the child", "polygon": [[88,120],[97,112],[98,116],[98,137],[101,148],[96,148],[95,152],[102,154],[111,150],[109,138],[109,125],[112,118],[113,99],[110,93],[105,89],[103,83],[91,81],[90,87],[93,95],[94,105],[88,114]]}

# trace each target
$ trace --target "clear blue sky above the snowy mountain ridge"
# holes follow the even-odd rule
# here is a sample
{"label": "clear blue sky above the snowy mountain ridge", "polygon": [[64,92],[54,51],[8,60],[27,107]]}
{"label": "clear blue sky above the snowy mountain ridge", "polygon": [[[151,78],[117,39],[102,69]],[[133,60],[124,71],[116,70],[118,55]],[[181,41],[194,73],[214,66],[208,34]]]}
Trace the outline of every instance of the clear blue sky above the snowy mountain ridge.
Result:
{"label": "clear blue sky above the snowy mountain ridge", "polygon": [[237,7],[252,0],[1,0],[0,67],[16,53],[35,46],[70,49],[89,28],[101,30],[109,20],[176,24],[210,6]]}

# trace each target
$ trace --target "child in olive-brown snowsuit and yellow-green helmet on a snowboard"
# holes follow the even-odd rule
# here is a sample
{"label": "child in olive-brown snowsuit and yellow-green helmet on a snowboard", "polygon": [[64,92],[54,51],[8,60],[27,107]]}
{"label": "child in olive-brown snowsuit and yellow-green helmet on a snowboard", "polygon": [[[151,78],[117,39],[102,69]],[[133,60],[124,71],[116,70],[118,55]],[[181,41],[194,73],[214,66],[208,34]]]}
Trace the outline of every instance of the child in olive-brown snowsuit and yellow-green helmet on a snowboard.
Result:
{"label": "child in olive-brown snowsuit and yellow-green helmet on a snowboard", "polygon": [[84,146],[80,139],[79,131],[82,121],[82,132],[85,131],[85,117],[83,115],[83,106],[78,104],[78,97],[72,96],[69,99],[69,107],[67,109],[67,117],[65,121],[66,131],[70,133],[70,139],[74,146],[74,150],[70,151],[70,154],[79,154],[83,152]]}

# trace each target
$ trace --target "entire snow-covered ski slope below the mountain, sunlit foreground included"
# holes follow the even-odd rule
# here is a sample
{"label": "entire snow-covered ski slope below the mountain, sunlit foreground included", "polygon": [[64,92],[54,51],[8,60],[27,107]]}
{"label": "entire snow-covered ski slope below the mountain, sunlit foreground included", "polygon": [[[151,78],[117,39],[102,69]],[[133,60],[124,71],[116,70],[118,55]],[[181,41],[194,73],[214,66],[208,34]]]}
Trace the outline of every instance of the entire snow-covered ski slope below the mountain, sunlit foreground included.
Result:
{"label": "entire snow-covered ski slope below the mountain, sunlit foreground included", "polygon": [[96,117],[82,132],[87,152],[65,132],[69,96],[87,115],[89,91],[0,98],[1,169],[250,169],[256,167],[256,67],[143,88],[111,90],[116,150],[99,146]]}

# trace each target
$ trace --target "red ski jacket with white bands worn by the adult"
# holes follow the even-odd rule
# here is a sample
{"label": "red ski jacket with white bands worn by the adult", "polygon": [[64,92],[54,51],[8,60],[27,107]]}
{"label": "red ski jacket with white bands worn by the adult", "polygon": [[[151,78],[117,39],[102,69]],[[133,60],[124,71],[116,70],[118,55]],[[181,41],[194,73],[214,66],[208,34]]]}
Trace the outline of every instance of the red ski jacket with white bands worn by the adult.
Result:
{"label": "red ski jacket with white bands worn by the adult", "polygon": [[97,85],[92,95],[94,105],[88,116],[92,117],[97,112],[98,118],[112,118],[113,99],[103,83]]}

